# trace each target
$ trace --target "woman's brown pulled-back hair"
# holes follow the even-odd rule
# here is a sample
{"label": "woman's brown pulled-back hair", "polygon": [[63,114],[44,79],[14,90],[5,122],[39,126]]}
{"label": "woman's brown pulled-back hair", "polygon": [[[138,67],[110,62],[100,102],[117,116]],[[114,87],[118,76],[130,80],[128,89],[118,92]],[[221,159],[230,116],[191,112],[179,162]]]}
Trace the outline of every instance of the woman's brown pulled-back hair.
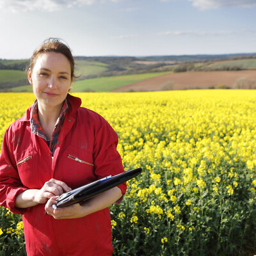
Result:
{"label": "woman's brown pulled-back hair", "polygon": [[76,77],[74,75],[75,61],[71,53],[71,49],[68,47],[67,44],[64,44],[63,42],[61,42],[59,38],[48,38],[44,40],[42,45],[40,45],[37,49],[35,49],[30,59],[30,63],[28,67],[31,69],[31,71],[33,71],[33,68],[35,67],[38,56],[40,56],[40,54],[43,54],[45,52],[57,52],[65,55],[70,63],[71,79]]}

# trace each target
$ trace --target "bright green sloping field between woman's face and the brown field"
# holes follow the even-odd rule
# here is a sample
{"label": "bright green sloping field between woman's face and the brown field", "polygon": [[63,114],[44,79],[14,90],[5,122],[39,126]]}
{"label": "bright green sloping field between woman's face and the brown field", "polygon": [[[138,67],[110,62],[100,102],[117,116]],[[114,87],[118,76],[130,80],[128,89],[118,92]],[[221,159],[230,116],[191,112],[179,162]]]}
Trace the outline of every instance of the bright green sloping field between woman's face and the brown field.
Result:
{"label": "bright green sloping field between woman's face and the brown field", "polygon": [[86,90],[93,90],[95,92],[111,92],[116,88],[120,88],[127,84],[136,83],[138,81],[161,76],[163,74],[166,74],[166,72],[86,79],[74,82],[72,84],[72,92],[85,92]]}

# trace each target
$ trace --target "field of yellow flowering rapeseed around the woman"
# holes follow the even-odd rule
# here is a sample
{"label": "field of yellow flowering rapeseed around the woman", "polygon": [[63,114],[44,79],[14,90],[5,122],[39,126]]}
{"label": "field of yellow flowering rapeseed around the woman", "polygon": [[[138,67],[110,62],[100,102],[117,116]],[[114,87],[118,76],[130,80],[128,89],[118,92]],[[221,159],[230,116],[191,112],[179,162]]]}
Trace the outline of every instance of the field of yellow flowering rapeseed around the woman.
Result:
{"label": "field of yellow flowering rapeseed around the woman", "polygon": [[[110,208],[115,255],[253,255],[256,91],[72,95],[115,129],[125,170],[143,168]],[[34,99],[0,93],[1,143]],[[1,211],[0,251],[11,252],[22,225]]]}

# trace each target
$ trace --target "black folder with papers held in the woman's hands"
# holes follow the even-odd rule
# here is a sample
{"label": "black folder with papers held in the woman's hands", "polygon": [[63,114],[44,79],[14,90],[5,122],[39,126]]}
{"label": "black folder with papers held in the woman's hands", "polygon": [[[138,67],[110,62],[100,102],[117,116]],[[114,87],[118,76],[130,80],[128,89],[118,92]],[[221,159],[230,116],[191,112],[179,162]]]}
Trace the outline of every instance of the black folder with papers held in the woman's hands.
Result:
{"label": "black folder with papers held in the woman's hands", "polygon": [[65,207],[68,205],[84,202],[108,189],[114,188],[127,180],[130,180],[141,173],[141,168],[128,170],[115,176],[104,177],[86,184],[80,188],[73,189],[67,193],[63,193],[56,201],[56,207]]}

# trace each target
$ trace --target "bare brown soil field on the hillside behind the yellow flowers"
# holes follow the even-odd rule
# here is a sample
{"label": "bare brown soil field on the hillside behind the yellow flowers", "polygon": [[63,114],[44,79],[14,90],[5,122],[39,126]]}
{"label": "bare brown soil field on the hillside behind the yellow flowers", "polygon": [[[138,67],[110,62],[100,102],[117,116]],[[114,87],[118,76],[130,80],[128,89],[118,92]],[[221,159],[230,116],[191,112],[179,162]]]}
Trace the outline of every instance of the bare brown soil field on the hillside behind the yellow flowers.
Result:
{"label": "bare brown soil field on the hillside behind the yellow flowers", "polygon": [[158,91],[164,83],[172,81],[172,90],[187,89],[207,89],[218,88],[220,84],[226,88],[232,88],[237,79],[245,77],[255,79],[256,70],[239,70],[239,71],[212,71],[212,72],[182,72],[166,74],[137,83],[122,86],[113,92],[140,92],[140,91]]}

